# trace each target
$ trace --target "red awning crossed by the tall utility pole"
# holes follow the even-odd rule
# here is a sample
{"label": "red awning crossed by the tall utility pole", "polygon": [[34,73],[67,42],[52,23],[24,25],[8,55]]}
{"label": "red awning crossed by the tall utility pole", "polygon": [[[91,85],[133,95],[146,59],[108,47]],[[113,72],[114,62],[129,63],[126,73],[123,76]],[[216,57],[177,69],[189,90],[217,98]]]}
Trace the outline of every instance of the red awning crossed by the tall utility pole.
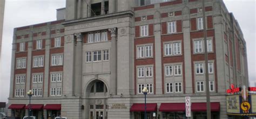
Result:
{"label": "red awning crossed by the tall utility pole", "polygon": [[[192,103],[191,111],[206,111],[206,102],[197,102]],[[211,102],[211,111],[219,111],[220,110],[220,103],[219,102]]]}

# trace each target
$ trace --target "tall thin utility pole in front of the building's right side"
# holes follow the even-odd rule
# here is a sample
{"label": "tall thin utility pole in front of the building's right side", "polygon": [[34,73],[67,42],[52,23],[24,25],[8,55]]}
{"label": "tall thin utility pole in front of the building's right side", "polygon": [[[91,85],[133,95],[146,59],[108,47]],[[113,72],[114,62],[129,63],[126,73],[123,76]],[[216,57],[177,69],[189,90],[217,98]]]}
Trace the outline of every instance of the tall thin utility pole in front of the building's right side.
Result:
{"label": "tall thin utility pole in front of the building's right side", "polygon": [[205,22],[205,0],[202,0],[203,4],[203,24],[204,24],[204,46],[205,46],[205,80],[206,80],[206,104],[207,104],[207,119],[211,119],[211,101],[210,101],[210,89],[209,89],[209,74],[208,74],[208,50],[207,50],[207,32]]}

